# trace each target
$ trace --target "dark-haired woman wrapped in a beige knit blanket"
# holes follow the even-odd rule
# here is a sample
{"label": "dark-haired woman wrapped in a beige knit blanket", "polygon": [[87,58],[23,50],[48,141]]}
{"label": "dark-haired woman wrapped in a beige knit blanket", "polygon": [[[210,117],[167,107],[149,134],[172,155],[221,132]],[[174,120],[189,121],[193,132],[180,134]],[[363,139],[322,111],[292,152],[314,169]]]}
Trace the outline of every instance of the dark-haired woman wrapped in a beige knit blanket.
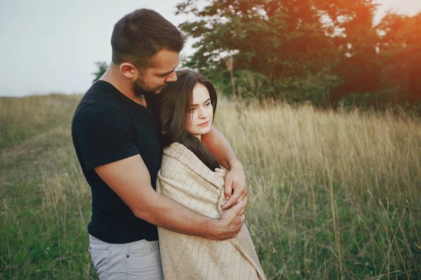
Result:
{"label": "dark-haired woman wrapped in a beige knit blanket", "polygon": [[[206,78],[190,70],[159,94],[163,146],[156,190],[190,209],[218,218],[224,195],[225,171],[201,135],[209,132],[217,95]],[[216,170],[216,172],[213,172]],[[243,225],[229,240],[214,241],[159,228],[165,279],[265,279],[250,234]]]}

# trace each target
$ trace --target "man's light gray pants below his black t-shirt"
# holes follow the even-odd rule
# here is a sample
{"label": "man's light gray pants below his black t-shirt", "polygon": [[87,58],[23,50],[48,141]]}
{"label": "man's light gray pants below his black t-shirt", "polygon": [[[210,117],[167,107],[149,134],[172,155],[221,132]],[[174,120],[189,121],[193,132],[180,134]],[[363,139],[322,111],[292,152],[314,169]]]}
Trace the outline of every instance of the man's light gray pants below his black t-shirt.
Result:
{"label": "man's light gray pants below his black t-shirt", "polygon": [[100,280],[162,280],[159,241],[110,244],[89,235],[89,253]]}

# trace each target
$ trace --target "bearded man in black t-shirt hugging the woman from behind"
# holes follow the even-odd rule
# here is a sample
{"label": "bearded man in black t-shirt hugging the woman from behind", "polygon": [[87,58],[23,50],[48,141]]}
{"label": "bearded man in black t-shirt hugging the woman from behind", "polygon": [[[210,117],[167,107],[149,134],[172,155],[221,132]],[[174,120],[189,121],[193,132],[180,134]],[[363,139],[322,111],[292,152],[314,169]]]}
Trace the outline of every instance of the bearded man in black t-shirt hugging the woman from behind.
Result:
{"label": "bearded man in black t-shirt hugging the woman from behind", "polygon": [[246,176],[213,127],[203,141],[229,169],[229,200],[220,218],[156,193],[162,150],[148,104],[177,80],[185,40],[161,15],[140,9],[116,23],[111,43],[109,69],[81,99],[72,121],[76,155],[92,190],[89,250],[100,279],[163,279],[156,226],[207,239],[234,237],[245,219]]}

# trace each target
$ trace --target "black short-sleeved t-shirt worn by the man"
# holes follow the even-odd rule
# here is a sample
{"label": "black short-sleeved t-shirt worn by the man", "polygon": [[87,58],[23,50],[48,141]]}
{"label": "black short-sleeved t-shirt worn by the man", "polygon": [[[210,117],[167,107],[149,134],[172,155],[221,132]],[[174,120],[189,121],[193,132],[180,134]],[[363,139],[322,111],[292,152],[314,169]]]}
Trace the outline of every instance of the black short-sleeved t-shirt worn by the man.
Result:
{"label": "black short-sleeved t-shirt worn by the man", "polygon": [[76,108],[72,137],[92,191],[89,234],[114,244],[158,240],[156,226],[137,218],[94,170],[140,154],[149,170],[152,187],[156,188],[162,149],[152,109],[133,102],[110,83],[98,80]]}

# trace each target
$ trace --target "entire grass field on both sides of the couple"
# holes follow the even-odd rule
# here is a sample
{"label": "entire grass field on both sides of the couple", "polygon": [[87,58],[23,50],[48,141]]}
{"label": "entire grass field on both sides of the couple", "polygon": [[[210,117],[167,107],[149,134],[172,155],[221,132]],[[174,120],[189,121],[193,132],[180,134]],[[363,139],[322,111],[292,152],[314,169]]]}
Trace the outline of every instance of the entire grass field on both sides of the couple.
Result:
{"label": "entire grass field on both sides of the couple", "polygon": [[[0,280],[96,279],[80,98],[0,98]],[[221,102],[215,126],[246,168],[268,279],[421,279],[420,120]]]}

